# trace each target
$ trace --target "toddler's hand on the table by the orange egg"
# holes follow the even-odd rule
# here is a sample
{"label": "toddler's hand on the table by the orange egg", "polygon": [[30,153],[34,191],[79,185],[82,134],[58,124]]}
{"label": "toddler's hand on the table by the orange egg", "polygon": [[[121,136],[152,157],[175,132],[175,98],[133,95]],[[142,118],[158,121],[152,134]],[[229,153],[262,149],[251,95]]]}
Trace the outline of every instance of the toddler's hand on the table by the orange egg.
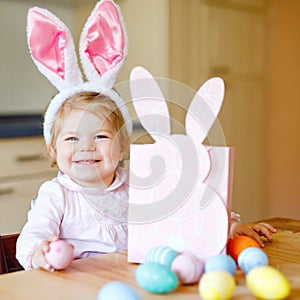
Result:
{"label": "toddler's hand on the table by the orange egg", "polygon": [[266,237],[269,242],[272,242],[273,237],[272,233],[275,233],[276,229],[264,222],[260,223],[237,223],[234,222],[231,224],[230,228],[230,237],[234,238],[238,235],[247,235],[254,240],[256,240],[261,247],[264,247],[265,244],[260,236]]}

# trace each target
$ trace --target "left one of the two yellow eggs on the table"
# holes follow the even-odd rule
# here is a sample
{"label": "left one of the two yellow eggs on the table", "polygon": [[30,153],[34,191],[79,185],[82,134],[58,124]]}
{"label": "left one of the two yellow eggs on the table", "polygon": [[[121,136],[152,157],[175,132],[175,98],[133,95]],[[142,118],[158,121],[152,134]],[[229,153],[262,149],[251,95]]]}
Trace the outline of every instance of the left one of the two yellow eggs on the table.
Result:
{"label": "left one of the two yellow eggs on the table", "polygon": [[234,288],[234,277],[226,271],[205,273],[199,282],[199,294],[203,300],[230,299]]}

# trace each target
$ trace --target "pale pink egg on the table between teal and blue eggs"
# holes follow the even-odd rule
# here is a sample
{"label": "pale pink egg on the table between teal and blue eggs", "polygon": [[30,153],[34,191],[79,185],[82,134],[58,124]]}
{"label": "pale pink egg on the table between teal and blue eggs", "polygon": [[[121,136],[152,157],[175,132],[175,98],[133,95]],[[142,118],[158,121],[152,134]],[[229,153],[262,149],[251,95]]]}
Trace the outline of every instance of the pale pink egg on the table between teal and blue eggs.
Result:
{"label": "pale pink egg on the table between teal and blue eggs", "polygon": [[199,282],[204,263],[191,252],[179,254],[173,261],[171,270],[183,284]]}

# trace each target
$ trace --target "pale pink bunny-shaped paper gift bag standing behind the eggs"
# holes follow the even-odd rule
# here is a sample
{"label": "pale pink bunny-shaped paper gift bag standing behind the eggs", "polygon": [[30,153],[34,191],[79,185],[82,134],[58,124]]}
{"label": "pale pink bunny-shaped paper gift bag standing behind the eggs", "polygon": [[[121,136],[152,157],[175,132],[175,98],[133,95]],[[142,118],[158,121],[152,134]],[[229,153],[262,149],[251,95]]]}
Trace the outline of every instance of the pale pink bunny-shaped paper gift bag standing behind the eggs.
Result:
{"label": "pale pink bunny-shaped paper gift bag standing behind the eggs", "polygon": [[225,253],[233,149],[203,145],[222,105],[222,79],[206,81],[194,96],[186,135],[171,135],[166,100],[148,71],[132,70],[130,90],[154,143],[130,148],[128,261],[143,262],[158,245],[191,251],[204,261]]}

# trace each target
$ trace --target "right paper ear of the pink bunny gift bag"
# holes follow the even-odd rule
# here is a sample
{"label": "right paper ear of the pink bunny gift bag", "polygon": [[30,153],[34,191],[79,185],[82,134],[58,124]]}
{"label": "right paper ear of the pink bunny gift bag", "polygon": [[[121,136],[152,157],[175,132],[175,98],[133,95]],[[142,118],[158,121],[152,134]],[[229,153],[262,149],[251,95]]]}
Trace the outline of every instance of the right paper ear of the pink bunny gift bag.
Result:
{"label": "right paper ear of the pink bunny gift bag", "polygon": [[217,119],[223,97],[224,82],[221,78],[211,78],[200,87],[186,115],[185,128],[188,135],[204,141]]}

